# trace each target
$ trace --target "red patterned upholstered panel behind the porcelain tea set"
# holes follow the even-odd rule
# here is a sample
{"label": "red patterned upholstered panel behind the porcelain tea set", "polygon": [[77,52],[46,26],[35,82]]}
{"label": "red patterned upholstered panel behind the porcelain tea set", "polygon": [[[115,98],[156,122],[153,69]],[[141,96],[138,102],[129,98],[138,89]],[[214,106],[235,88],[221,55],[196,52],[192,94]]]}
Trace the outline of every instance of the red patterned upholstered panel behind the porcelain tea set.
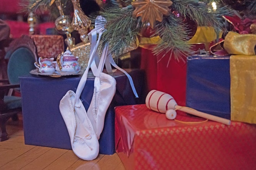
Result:
{"label": "red patterned upholstered panel behind the porcelain tea set", "polygon": [[61,35],[31,35],[38,57],[55,59],[64,51],[64,38]]}

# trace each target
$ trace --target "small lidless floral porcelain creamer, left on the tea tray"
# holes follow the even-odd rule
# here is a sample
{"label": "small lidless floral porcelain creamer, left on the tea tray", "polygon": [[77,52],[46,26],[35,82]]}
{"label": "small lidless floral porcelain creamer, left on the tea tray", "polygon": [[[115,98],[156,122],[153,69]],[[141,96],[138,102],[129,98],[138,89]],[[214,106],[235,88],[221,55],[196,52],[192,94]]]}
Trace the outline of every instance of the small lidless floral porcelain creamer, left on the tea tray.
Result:
{"label": "small lidless floral porcelain creamer, left on the tea tray", "polygon": [[35,62],[34,65],[35,67],[37,67],[39,69],[40,73],[44,73],[44,74],[53,74],[55,69],[54,67],[52,67],[52,62],[53,62],[54,58],[42,58],[39,57],[38,59],[38,63]]}

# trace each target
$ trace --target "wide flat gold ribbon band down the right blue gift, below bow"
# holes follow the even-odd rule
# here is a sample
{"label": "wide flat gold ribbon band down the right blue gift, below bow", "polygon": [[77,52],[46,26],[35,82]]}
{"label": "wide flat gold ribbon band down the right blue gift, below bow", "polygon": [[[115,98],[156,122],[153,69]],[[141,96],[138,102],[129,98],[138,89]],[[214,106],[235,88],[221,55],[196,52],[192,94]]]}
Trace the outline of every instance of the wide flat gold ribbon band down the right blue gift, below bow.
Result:
{"label": "wide flat gold ribbon band down the right blue gift, below bow", "polygon": [[256,56],[230,57],[231,120],[256,123]]}

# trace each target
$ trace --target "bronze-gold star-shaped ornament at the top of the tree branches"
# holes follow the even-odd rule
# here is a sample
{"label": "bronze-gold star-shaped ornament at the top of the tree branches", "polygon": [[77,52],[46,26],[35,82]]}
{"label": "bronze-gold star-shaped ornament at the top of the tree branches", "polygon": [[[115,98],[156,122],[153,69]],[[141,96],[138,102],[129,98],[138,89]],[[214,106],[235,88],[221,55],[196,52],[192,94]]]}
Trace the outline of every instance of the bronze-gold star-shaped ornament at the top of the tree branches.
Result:
{"label": "bronze-gold star-shaped ornament at the top of the tree branches", "polygon": [[170,0],[136,0],[132,3],[135,7],[133,11],[133,16],[141,16],[142,22],[149,22],[150,27],[154,28],[154,22],[161,22],[163,15],[169,15],[169,6],[172,5]]}

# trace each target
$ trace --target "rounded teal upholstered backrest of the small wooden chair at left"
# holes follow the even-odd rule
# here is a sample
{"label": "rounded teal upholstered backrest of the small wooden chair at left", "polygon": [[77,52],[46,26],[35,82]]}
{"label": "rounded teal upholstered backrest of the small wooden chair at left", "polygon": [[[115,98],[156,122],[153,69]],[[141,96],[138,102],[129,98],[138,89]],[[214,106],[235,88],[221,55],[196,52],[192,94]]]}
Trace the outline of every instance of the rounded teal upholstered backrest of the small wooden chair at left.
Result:
{"label": "rounded teal upholstered backrest of the small wooden chair at left", "polygon": [[20,47],[15,50],[8,61],[7,74],[10,84],[19,84],[19,77],[28,75],[29,72],[35,69],[35,56],[26,47]]}

